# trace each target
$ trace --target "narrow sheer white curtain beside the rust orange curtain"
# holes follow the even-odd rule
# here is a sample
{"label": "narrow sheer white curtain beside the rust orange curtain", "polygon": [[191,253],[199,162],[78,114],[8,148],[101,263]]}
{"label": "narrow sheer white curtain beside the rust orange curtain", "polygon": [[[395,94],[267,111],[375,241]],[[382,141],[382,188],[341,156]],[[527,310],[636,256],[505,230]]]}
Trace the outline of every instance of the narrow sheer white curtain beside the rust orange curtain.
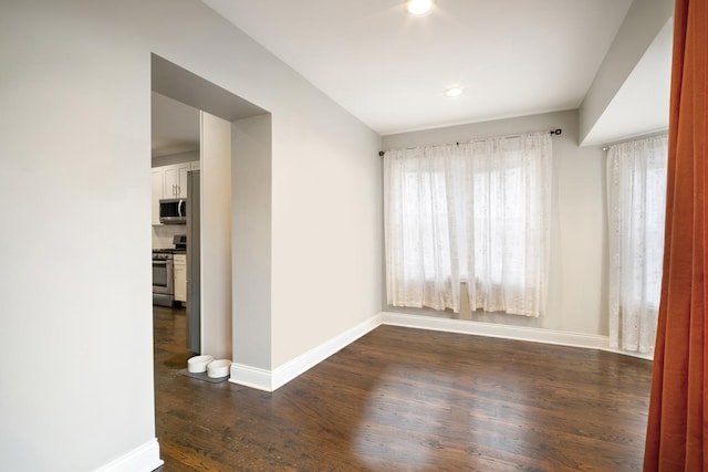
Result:
{"label": "narrow sheer white curtain beside the rust orange curtain", "polygon": [[662,290],[668,137],[610,147],[610,346],[652,355]]}

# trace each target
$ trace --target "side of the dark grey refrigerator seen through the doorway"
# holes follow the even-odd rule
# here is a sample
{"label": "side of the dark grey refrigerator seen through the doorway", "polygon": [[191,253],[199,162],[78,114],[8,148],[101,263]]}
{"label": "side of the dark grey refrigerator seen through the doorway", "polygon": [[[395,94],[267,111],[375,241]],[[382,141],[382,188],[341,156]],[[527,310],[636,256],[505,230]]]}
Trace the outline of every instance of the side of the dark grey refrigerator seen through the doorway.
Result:
{"label": "side of the dark grey refrigerator seen through the doorway", "polygon": [[187,347],[201,354],[199,170],[187,172]]}

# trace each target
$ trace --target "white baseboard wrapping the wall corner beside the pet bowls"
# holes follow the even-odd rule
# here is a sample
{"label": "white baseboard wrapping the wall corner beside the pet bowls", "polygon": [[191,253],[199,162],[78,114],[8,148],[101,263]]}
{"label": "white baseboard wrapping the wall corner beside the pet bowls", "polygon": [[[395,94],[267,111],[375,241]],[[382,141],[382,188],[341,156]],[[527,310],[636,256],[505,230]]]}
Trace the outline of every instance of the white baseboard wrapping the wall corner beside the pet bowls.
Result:
{"label": "white baseboard wrapping the wall corner beside the pet bowls", "polygon": [[372,316],[274,370],[269,371],[233,363],[229,381],[259,390],[274,391],[378,326],[381,326],[381,314]]}

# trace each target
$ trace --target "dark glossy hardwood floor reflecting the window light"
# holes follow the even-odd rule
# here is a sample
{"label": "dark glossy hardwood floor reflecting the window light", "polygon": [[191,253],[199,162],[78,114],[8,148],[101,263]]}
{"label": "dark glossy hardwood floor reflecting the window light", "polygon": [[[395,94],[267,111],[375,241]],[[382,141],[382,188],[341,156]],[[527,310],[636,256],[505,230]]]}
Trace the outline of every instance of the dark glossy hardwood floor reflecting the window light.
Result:
{"label": "dark glossy hardwood floor reflecting the window light", "polygon": [[178,374],[155,324],[160,471],[641,470],[650,363],[381,326],[273,394]]}

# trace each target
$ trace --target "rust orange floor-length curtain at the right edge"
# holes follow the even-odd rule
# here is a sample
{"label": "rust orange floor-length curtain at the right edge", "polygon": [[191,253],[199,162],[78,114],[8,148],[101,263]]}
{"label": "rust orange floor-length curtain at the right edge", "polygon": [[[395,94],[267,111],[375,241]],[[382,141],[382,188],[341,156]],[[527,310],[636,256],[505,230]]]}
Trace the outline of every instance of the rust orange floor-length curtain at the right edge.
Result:
{"label": "rust orange floor-length curtain at the right edge", "polygon": [[645,471],[708,471],[708,0],[676,0],[664,279]]}

